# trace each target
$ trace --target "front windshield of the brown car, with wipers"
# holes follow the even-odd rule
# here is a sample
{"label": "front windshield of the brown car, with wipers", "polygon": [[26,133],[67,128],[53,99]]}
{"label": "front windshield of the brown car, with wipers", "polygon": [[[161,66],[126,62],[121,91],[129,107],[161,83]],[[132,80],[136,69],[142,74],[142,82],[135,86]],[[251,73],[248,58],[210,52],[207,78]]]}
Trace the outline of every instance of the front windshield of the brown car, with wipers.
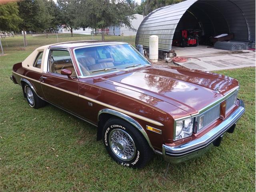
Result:
{"label": "front windshield of the brown car, with wipers", "polygon": [[129,44],[78,48],[75,56],[83,76],[150,64]]}

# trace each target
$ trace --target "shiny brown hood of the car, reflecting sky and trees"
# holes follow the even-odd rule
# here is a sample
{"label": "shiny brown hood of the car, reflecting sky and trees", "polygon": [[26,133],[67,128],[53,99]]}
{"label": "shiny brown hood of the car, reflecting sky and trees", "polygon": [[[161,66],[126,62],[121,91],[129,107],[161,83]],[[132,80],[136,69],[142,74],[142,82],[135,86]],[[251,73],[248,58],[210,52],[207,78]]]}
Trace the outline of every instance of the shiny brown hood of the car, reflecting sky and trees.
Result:
{"label": "shiny brown hood of the car, reflecting sky and trees", "polygon": [[178,67],[144,67],[104,76],[104,81],[168,102],[190,114],[238,86],[237,80],[227,76]]}

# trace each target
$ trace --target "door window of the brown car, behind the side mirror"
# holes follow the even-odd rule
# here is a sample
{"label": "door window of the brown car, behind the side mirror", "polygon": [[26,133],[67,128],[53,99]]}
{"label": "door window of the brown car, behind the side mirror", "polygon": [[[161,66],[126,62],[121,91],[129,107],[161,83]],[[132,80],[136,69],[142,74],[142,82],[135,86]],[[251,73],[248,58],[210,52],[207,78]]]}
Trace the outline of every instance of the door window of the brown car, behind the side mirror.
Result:
{"label": "door window of the brown car, behind the side mirror", "polygon": [[71,76],[76,76],[71,56],[66,50],[50,50],[48,67],[52,73],[61,74],[62,69],[68,69],[72,71]]}

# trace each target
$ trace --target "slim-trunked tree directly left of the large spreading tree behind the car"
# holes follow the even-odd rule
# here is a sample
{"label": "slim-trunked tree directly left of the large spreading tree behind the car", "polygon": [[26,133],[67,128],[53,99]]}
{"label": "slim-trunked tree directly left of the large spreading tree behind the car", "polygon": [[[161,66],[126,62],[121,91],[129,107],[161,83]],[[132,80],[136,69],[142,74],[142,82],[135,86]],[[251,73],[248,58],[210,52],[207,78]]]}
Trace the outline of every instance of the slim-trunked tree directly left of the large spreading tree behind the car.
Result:
{"label": "slim-trunked tree directly left of the large spreading tree behind the car", "polygon": [[71,32],[71,37],[73,37],[73,30],[78,29],[77,25],[77,8],[80,3],[78,0],[57,0],[58,4],[58,21],[60,26],[65,26],[69,28]]}

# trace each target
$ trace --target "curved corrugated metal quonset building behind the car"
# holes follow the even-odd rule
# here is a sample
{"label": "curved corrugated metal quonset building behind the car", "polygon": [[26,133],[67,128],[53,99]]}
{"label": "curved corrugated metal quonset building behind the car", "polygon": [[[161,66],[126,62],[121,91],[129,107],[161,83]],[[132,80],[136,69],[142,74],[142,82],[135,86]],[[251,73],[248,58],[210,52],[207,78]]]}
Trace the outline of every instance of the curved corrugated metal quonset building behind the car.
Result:
{"label": "curved corrugated metal quonset building behind the car", "polygon": [[157,35],[159,50],[170,51],[182,29],[200,29],[203,38],[233,33],[234,40],[255,41],[255,0],[186,0],[158,8],[140,24],[136,45],[148,48],[149,37]]}

